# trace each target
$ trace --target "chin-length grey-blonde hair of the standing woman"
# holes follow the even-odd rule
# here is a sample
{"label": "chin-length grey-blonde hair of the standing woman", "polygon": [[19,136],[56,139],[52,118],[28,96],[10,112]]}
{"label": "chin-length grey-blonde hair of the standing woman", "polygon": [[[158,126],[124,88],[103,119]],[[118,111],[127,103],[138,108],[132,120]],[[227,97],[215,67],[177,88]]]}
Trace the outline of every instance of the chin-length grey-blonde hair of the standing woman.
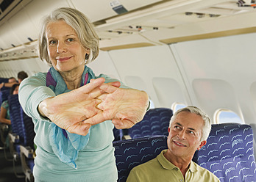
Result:
{"label": "chin-length grey-blonde hair of the standing woman", "polygon": [[85,56],[85,59],[87,60],[86,64],[92,62],[96,57],[98,57],[99,37],[93,28],[93,24],[90,23],[88,18],[79,10],[75,10],[70,7],[60,7],[43,19],[42,28],[38,37],[38,51],[40,59],[51,64],[47,51],[46,26],[48,23],[54,21],[65,21],[65,23],[77,32],[77,36],[82,46],[84,48],[90,48],[90,55],[86,54]]}

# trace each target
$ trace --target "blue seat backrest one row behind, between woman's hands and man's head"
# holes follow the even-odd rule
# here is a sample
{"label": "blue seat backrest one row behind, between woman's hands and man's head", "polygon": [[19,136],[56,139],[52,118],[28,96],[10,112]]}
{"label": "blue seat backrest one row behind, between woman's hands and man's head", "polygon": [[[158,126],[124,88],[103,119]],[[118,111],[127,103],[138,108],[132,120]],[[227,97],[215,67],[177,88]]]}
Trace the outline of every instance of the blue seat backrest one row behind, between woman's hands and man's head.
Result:
{"label": "blue seat backrest one row behind, between woman's hands and man's head", "polygon": [[168,126],[172,114],[172,110],[168,108],[149,109],[141,122],[129,128],[128,134],[132,139],[154,135],[168,136]]}

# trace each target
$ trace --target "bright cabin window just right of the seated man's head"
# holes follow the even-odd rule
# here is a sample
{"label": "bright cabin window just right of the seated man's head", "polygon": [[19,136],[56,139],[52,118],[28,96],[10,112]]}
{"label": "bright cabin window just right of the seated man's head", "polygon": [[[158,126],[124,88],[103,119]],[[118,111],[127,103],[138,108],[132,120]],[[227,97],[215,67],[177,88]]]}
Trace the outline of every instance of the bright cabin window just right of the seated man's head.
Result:
{"label": "bright cabin window just right of the seated man's head", "polygon": [[218,109],[215,113],[215,123],[241,123],[243,120],[235,112],[229,109]]}

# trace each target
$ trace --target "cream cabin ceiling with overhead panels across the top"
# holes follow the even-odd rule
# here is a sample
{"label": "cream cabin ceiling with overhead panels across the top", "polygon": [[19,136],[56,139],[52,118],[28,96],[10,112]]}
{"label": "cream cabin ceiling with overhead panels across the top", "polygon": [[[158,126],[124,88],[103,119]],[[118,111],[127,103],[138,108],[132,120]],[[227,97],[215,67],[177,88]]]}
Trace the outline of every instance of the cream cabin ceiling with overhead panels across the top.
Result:
{"label": "cream cabin ceiling with overhead panels across the top", "polygon": [[[57,7],[75,7],[88,15],[101,38],[102,50],[227,36],[234,34],[229,30],[256,27],[250,22],[255,19],[252,12],[256,10],[238,7],[238,0],[99,0],[90,3],[83,0],[22,0],[0,21],[0,25],[4,22],[7,25],[0,26],[4,42],[0,41],[0,48],[4,49],[0,55],[17,51],[17,45],[23,49],[23,45],[29,43],[28,37],[37,39],[43,16]],[[119,12],[117,7],[127,12]],[[240,32],[244,33],[237,31],[235,34]]]}

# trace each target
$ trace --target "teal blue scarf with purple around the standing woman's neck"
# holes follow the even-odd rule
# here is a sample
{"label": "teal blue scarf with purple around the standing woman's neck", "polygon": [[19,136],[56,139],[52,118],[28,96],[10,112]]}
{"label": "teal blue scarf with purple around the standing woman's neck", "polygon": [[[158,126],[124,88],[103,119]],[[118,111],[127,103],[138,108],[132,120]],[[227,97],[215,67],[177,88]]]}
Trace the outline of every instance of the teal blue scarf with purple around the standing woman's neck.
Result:
{"label": "teal blue scarf with purple around the standing woman's neck", "polygon": [[[82,73],[81,86],[88,84],[90,79],[96,79],[93,70],[85,65],[85,70]],[[56,95],[69,92],[63,77],[53,67],[51,67],[46,76],[46,86],[51,88]],[[88,144],[90,130],[86,136],[79,134],[71,134],[59,126],[51,123],[49,126],[49,141],[52,150],[60,161],[68,164],[70,167],[77,169],[77,156],[79,150],[85,148]]]}

